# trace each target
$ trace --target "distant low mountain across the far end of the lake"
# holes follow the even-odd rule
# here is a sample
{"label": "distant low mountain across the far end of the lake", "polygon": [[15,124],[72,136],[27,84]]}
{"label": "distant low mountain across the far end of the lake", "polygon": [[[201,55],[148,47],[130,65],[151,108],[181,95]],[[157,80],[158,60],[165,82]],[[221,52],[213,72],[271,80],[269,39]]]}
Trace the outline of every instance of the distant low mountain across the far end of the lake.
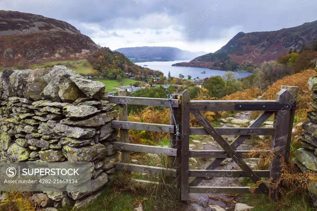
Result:
{"label": "distant low mountain across the far end of the lake", "polygon": [[115,51],[123,53],[132,62],[175,61],[189,60],[203,55],[202,52],[193,53],[173,47],[133,47],[119,48]]}

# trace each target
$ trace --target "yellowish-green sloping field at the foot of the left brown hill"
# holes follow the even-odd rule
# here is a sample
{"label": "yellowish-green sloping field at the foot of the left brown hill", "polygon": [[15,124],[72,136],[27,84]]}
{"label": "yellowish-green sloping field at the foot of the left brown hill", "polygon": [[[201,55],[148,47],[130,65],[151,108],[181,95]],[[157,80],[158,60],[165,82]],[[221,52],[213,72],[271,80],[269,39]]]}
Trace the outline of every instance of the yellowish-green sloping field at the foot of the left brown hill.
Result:
{"label": "yellowish-green sloping field at the foot of the left brown hill", "polygon": [[74,70],[76,73],[91,73],[94,68],[93,66],[87,61],[87,59],[77,60],[77,61],[51,61],[51,62],[43,62],[38,64],[30,64],[30,69],[37,69],[37,68],[46,68],[46,67],[53,67],[54,65],[61,64],[66,66],[68,69]]}

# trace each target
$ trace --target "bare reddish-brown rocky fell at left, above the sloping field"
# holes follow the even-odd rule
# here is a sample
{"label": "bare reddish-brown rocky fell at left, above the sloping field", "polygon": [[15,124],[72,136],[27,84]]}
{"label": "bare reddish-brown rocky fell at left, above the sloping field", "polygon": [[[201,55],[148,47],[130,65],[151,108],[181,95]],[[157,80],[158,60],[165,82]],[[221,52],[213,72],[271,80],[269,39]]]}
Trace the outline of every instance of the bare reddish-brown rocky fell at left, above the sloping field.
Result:
{"label": "bare reddish-brown rocky fell at left, above the sloping field", "polygon": [[64,21],[0,10],[0,66],[86,59],[97,45]]}

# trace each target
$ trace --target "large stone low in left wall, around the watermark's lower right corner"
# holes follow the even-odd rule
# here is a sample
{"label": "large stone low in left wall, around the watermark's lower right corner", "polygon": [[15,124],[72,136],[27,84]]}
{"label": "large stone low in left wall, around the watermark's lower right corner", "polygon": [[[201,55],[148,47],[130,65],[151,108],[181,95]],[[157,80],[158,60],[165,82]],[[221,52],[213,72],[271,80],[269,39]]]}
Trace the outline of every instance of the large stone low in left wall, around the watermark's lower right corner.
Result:
{"label": "large stone low in left wall, around the watermark's lower right corner", "polygon": [[84,196],[87,196],[105,186],[108,182],[108,175],[105,172],[101,172],[96,178],[91,180],[91,190],[89,191],[71,191],[68,195],[72,199],[77,200]]}

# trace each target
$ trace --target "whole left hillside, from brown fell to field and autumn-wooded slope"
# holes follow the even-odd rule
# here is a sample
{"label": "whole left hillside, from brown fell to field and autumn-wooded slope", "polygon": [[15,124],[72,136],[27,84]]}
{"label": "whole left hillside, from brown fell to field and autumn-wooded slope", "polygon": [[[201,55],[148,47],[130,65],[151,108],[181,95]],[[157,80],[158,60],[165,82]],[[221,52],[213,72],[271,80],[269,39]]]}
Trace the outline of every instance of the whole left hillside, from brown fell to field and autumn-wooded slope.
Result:
{"label": "whole left hillside, from brown fell to field and autumn-wooded slope", "polygon": [[133,64],[119,52],[96,45],[67,22],[0,10],[0,70],[5,67],[35,69],[56,64],[66,65],[80,74],[94,72],[99,76],[103,73],[108,79],[117,79],[119,75],[121,78],[136,76],[138,80],[139,75],[162,74]]}

